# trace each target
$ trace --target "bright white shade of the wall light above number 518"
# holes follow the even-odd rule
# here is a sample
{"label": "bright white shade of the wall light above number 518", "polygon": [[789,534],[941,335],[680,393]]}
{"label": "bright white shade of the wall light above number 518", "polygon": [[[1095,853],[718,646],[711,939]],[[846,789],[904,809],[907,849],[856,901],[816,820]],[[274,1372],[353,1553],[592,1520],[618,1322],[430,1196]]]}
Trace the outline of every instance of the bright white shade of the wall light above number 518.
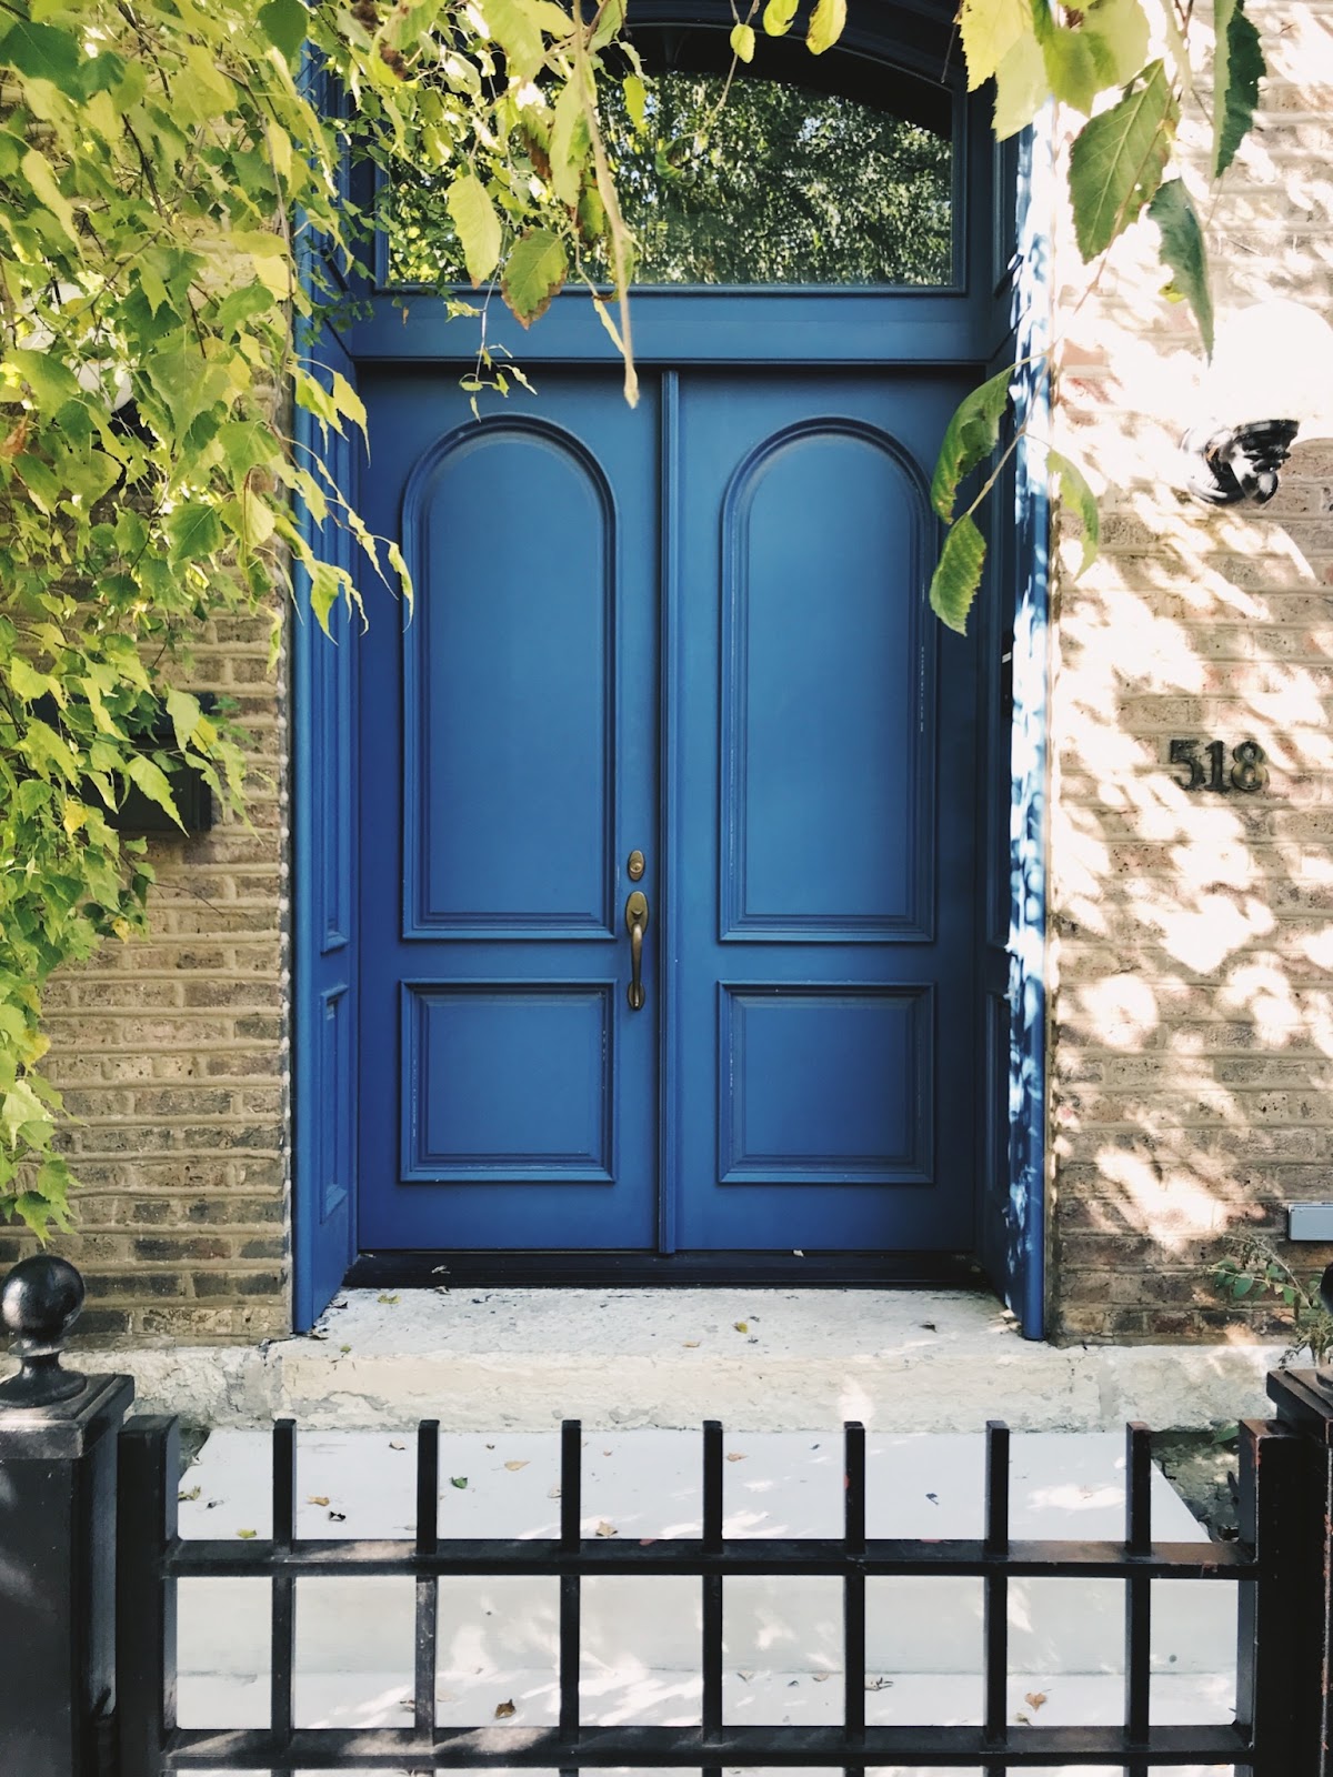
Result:
{"label": "bright white shade of the wall light above number 518", "polygon": [[1305,435],[1333,426],[1333,327],[1301,302],[1241,309],[1217,329],[1203,409],[1226,426],[1294,419]]}

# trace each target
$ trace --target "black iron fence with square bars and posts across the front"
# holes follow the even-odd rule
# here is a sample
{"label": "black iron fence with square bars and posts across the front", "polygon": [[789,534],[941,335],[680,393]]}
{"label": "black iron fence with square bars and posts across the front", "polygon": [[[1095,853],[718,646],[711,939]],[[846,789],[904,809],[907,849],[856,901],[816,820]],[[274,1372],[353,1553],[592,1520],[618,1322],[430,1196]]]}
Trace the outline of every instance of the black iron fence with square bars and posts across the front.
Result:
{"label": "black iron fence with square bars and posts across the front", "polygon": [[[46,1267],[55,1260],[28,1262]],[[986,1429],[985,1534],[883,1539],[866,1534],[866,1432],[844,1430],[839,1537],[723,1535],[723,1434],[702,1430],[702,1534],[647,1542],[581,1534],[581,1427],[562,1432],[560,1532],[531,1539],[443,1539],[439,1425],[418,1429],[416,1535],[403,1541],[295,1535],[297,1429],[272,1434],[272,1535],[183,1541],[172,1418],[123,1423],[124,1379],[82,1383],[59,1368],[50,1271],[5,1311],[25,1368],[0,1390],[0,1770],[21,1777],[164,1777],[167,1772],[334,1772],[455,1768],[924,1766],[1006,1772],[1097,1766],[1148,1777],[1221,1766],[1257,1777],[1333,1777],[1333,1398],[1313,1377],[1274,1374],[1278,1418],[1241,1436],[1241,1539],[1159,1542],[1152,1534],[1152,1441],[1127,1432],[1120,1541],[1010,1535],[1010,1432]],[[11,1279],[12,1281],[12,1279]],[[64,1279],[68,1285],[68,1279]],[[7,1287],[9,1295],[14,1295]],[[23,1292],[18,1292],[23,1294]],[[5,1391],[9,1400],[5,1402]],[[309,1576],[414,1580],[411,1727],[302,1727],[293,1711],[295,1589]],[[443,1727],[435,1717],[437,1582],[498,1574],[560,1582],[558,1720],[551,1727]],[[691,1576],[702,1598],[702,1708],[693,1727],[585,1725],[579,1713],[581,1587],[608,1574]],[[741,1576],[828,1576],[842,1585],[842,1709],[837,1725],[738,1727],[723,1711],[723,1589]],[[176,1724],[176,1587],[183,1578],[267,1580],[270,1711],[263,1729]],[[882,1576],[967,1576],[983,1589],[981,1720],[876,1725],[866,1709],[866,1585]],[[1123,1720],[1040,1725],[1008,1718],[1008,1589],[1114,1580],[1125,1592]],[[1159,1724],[1150,1708],[1153,1582],[1207,1580],[1239,1594],[1237,1708],[1230,1724]]]}

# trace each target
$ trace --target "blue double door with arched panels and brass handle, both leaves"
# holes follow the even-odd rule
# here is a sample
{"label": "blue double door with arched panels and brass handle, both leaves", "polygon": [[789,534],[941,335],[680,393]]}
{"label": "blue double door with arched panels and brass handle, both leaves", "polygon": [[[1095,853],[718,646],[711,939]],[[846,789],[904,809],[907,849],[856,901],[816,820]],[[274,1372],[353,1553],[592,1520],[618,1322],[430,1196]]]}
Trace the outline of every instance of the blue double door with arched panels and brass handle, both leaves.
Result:
{"label": "blue double door with arched panels and brass handle, both leaves", "polygon": [[363,371],[363,1249],[972,1246],[965,386]]}

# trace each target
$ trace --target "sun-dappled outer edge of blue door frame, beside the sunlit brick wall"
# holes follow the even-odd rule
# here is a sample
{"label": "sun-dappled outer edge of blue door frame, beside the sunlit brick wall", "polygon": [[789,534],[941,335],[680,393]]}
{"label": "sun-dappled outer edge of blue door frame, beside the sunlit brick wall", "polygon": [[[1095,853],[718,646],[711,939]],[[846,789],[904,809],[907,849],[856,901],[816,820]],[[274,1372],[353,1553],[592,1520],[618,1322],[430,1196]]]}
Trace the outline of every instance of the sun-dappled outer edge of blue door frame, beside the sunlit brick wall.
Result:
{"label": "sun-dappled outer edge of blue door frame, beside the sunlit brick wall", "polygon": [[[1054,153],[1049,114],[1018,149],[1018,265],[1013,288],[1020,359],[1050,343]],[[1010,1205],[1017,1242],[1011,1306],[1026,1338],[1045,1336],[1047,1276],[1047,844],[1050,681],[1050,492],[1045,435],[1050,379],[1020,375],[1017,418],[1029,428],[1015,462],[1017,586],[1010,809]]]}

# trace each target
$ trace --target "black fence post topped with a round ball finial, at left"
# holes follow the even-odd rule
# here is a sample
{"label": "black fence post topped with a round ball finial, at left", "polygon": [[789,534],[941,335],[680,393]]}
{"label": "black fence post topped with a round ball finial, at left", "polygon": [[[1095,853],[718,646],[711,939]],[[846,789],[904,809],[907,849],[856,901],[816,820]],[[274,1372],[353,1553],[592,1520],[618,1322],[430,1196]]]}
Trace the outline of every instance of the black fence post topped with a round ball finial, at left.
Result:
{"label": "black fence post topped with a round ball finial, at left", "polygon": [[0,1384],[0,1733],[23,1777],[112,1777],[116,1445],[128,1375],[60,1368],[84,1306],[62,1258],[18,1263],[0,1324],[20,1370]]}

